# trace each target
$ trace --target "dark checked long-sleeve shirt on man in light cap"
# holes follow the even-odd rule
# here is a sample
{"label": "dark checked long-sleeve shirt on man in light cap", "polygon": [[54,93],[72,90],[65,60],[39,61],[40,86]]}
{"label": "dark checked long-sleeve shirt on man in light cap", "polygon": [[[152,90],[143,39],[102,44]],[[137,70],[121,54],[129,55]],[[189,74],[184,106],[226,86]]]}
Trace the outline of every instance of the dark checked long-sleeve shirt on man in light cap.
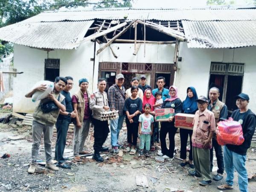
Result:
{"label": "dark checked long-sleeve shirt on man in light cap", "polygon": [[118,114],[122,115],[125,106],[125,87],[122,86],[122,90],[116,84],[109,87],[108,104],[111,110],[118,110]]}

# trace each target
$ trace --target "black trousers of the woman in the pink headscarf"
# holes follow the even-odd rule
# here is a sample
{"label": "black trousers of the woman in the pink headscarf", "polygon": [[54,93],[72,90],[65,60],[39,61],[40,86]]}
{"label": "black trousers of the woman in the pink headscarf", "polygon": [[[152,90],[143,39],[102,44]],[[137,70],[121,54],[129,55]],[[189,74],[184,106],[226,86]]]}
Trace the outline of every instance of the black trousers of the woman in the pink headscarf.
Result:
{"label": "black trousers of the woman in the pink headscarf", "polygon": [[[174,127],[169,122],[162,122],[160,129],[160,142],[161,142],[161,150],[164,155],[168,157],[173,157],[174,149],[175,149],[175,133],[177,128]],[[166,146],[166,135],[169,134],[169,149]]]}

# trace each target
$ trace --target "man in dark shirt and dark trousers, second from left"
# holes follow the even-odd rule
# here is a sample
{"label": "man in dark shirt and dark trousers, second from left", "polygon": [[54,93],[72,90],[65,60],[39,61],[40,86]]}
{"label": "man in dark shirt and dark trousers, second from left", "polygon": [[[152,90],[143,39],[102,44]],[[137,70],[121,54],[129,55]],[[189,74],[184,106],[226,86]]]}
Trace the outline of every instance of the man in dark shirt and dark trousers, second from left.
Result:
{"label": "man in dark shirt and dark trousers, second from left", "polygon": [[71,102],[70,90],[73,87],[73,78],[70,76],[65,77],[67,79],[67,85],[61,91],[61,94],[65,97],[66,111],[61,111],[58,116],[55,127],[57,129],[57,141],[55,145],[55,160],[58,161],[58,167],[64,169],[71,169],[70,165],[65,163],[65,160],[68,158],[63,157],[66,139],[67,139],[67,131],[70,125],[71,118],[75,118],[77,114],[73,111],[73,106]]}

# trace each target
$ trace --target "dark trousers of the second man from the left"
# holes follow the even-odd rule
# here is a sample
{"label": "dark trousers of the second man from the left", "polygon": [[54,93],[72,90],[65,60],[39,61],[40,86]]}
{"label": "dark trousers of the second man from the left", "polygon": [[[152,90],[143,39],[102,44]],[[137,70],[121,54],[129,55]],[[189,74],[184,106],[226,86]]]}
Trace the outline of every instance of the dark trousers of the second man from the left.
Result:
{"label": "dark trousers of the second man from the left", "polygon": [[64,163],[63,153],[66,145],[67,131],[70,120],[57,120],[55,123],[57,129],[57,141],[55,145],[55,160],[59,163]]}

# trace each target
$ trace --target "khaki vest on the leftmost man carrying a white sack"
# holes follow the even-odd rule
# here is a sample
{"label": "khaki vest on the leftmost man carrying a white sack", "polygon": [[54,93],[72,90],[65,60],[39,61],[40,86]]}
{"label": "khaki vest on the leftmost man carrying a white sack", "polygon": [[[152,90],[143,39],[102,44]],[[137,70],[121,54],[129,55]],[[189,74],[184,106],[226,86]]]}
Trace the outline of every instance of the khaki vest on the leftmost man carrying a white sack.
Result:
{"label": "khaki vest on the leftmost man carrying a white sack", "polygon": [[[61,93],[59,93],[59,94],[61,95]],[[54,94],[55,98],[58,99],[59,94]],[[64,99],[65,99],[65,97],[63,95],[61,95],[59,102],[62,102]],[[42,100],[41,102],[44,102],[44,100]],[[59,113],[60,113],[60,109],[57,109],[55,111],[50,111],[48,113],[43,113],[43,111],[41,110],[40,103],[39,103],[33,113],[33,119],[35,119],[35,121],[42,123],[44,125],[54,125],[55,122],[57,121],[57,117],[58,117]]]}

